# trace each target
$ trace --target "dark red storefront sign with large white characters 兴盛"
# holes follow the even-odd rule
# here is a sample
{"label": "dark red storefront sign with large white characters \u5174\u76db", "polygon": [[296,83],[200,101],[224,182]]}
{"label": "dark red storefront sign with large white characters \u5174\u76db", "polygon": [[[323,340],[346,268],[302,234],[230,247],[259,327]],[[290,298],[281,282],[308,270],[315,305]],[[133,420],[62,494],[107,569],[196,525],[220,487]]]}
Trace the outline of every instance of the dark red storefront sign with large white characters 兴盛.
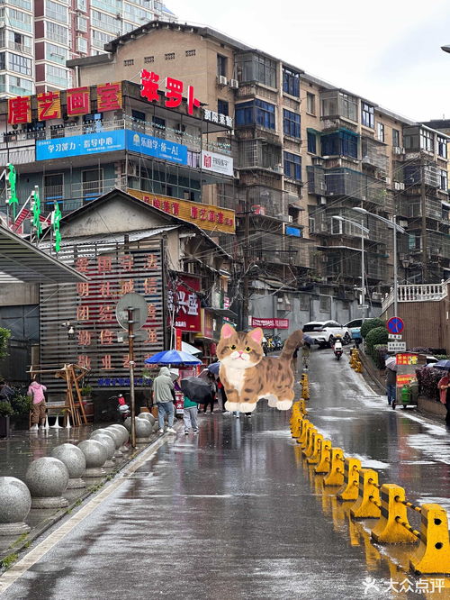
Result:
{"label": "dark red storefront sign with large white characters \u5174\u76db", "polygon": [[174,326],[180,332],[201,332],[200,280],[196,277],[180,277],[175,291],[168,294],[169,314],[174,311]]}

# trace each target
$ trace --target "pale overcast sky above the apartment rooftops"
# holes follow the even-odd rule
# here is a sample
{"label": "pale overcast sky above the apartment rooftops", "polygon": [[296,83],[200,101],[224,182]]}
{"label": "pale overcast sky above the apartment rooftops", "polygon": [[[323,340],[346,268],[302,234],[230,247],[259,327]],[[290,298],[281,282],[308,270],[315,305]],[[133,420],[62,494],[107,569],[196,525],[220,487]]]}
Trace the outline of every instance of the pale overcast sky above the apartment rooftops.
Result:
{"label": "pale overcast sky above the apartment rooftops", "polygon": [[450,118],[448,0],[166,0],[248,46],[414,121]]}

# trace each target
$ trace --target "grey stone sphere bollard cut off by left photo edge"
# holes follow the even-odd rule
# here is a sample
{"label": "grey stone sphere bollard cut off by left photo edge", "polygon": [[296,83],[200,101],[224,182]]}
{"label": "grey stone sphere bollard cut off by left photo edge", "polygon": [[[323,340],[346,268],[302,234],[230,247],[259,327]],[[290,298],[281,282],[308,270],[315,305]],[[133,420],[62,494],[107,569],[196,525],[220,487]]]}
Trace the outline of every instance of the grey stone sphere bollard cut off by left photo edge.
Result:
{"label": "grey stone sphere bollard cut off by left photo edge", "polygon": [[0,535],[30,531],[24,523],[31,509],[30,490],[20,479],[0,477]]}

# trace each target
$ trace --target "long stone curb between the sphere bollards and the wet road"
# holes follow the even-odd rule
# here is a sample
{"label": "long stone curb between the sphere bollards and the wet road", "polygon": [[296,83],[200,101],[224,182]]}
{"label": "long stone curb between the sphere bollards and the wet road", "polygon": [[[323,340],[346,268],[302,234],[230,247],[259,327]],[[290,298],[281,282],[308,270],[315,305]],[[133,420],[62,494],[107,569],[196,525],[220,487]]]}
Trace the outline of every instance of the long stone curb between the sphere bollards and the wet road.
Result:
{"label": "long stone curb between the sphere bollards and the wet road", "polygon": [[[176,425],[176,423],[174,423],[174,424]],[[178,430],[178,429],[181,429],[181,426],[176,428],[176,430]],[[157,434],[154,440],[150,441],[145,446],[142,446],[142,448],[134,450],[130,454],[129,457],[127,457],[126,459],[124,459],[121,462],[121,465],[118,468],[112,470],[110,473],[105,475],[103,477],[103,481],[96,484],[95,486],[86,486],[85,492],[83,494],[79,495],[76,498],[76,500],[74,500],[66,508],[61,508],[56,513],[51,514],[51,516],[49,516],[49,518],[47,520],[38,524],[36,527],[31,529],[31,531],[26,533],[25,535],[18,536],[18,539],[16,541],[14,541],[6,550],[3,550],[2,552],[0,552],[0,576],[4,573],[5,570],[7,570],[7,568],[9,568],[9,566],[12,563],[15,562],[15,559],[12,559],[12,560],[8,561],[7,565],[4,566],[4,564],[3,564],[4,559],[7,559],[8,557],[13,557],[13,555],[18,555],[19,552],[21,552],[22,550],[26,550],[27,548],[29,548],[29,546],[31,545],[31,542],[37,540],[40,537],[40,535],[42,535],[42,533],[48,531],[50,529],[50,527],[52,527],[55,523],[58,523],[58,521],[60,521],[63,517],[65,517],[67,514],[70,514],[74,508],[77,508],[79,505],[82,505],[85,502],[86,498],[88,498],[91,495],[96,494],[96,492],[98,492],[98,490],[100,488],[106,486],[124,468],[126,468],[130,464],[131,461],[136,459],[139,456],[139,454],[141,454],[145,450],[148,450],[153,445],[157,444],[158,441],[161,441],[163,439],[164,440],[169,439],[169,435],[170,435],[169,433],[163,433],[162,435]]]}

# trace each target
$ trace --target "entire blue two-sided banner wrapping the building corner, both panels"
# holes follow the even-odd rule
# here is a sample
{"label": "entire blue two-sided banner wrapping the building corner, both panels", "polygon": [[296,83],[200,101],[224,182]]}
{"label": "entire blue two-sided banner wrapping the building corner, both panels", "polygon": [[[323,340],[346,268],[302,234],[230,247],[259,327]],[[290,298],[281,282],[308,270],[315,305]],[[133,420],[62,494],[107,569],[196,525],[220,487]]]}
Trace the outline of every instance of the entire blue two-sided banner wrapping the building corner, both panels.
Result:
{"label": "entire blue two-sided banner wrapping the building corner, both panels", "polygon": [[128,129],[36,141],[36,160],[66,159],[125,149],[187,165],[187,146]]}

